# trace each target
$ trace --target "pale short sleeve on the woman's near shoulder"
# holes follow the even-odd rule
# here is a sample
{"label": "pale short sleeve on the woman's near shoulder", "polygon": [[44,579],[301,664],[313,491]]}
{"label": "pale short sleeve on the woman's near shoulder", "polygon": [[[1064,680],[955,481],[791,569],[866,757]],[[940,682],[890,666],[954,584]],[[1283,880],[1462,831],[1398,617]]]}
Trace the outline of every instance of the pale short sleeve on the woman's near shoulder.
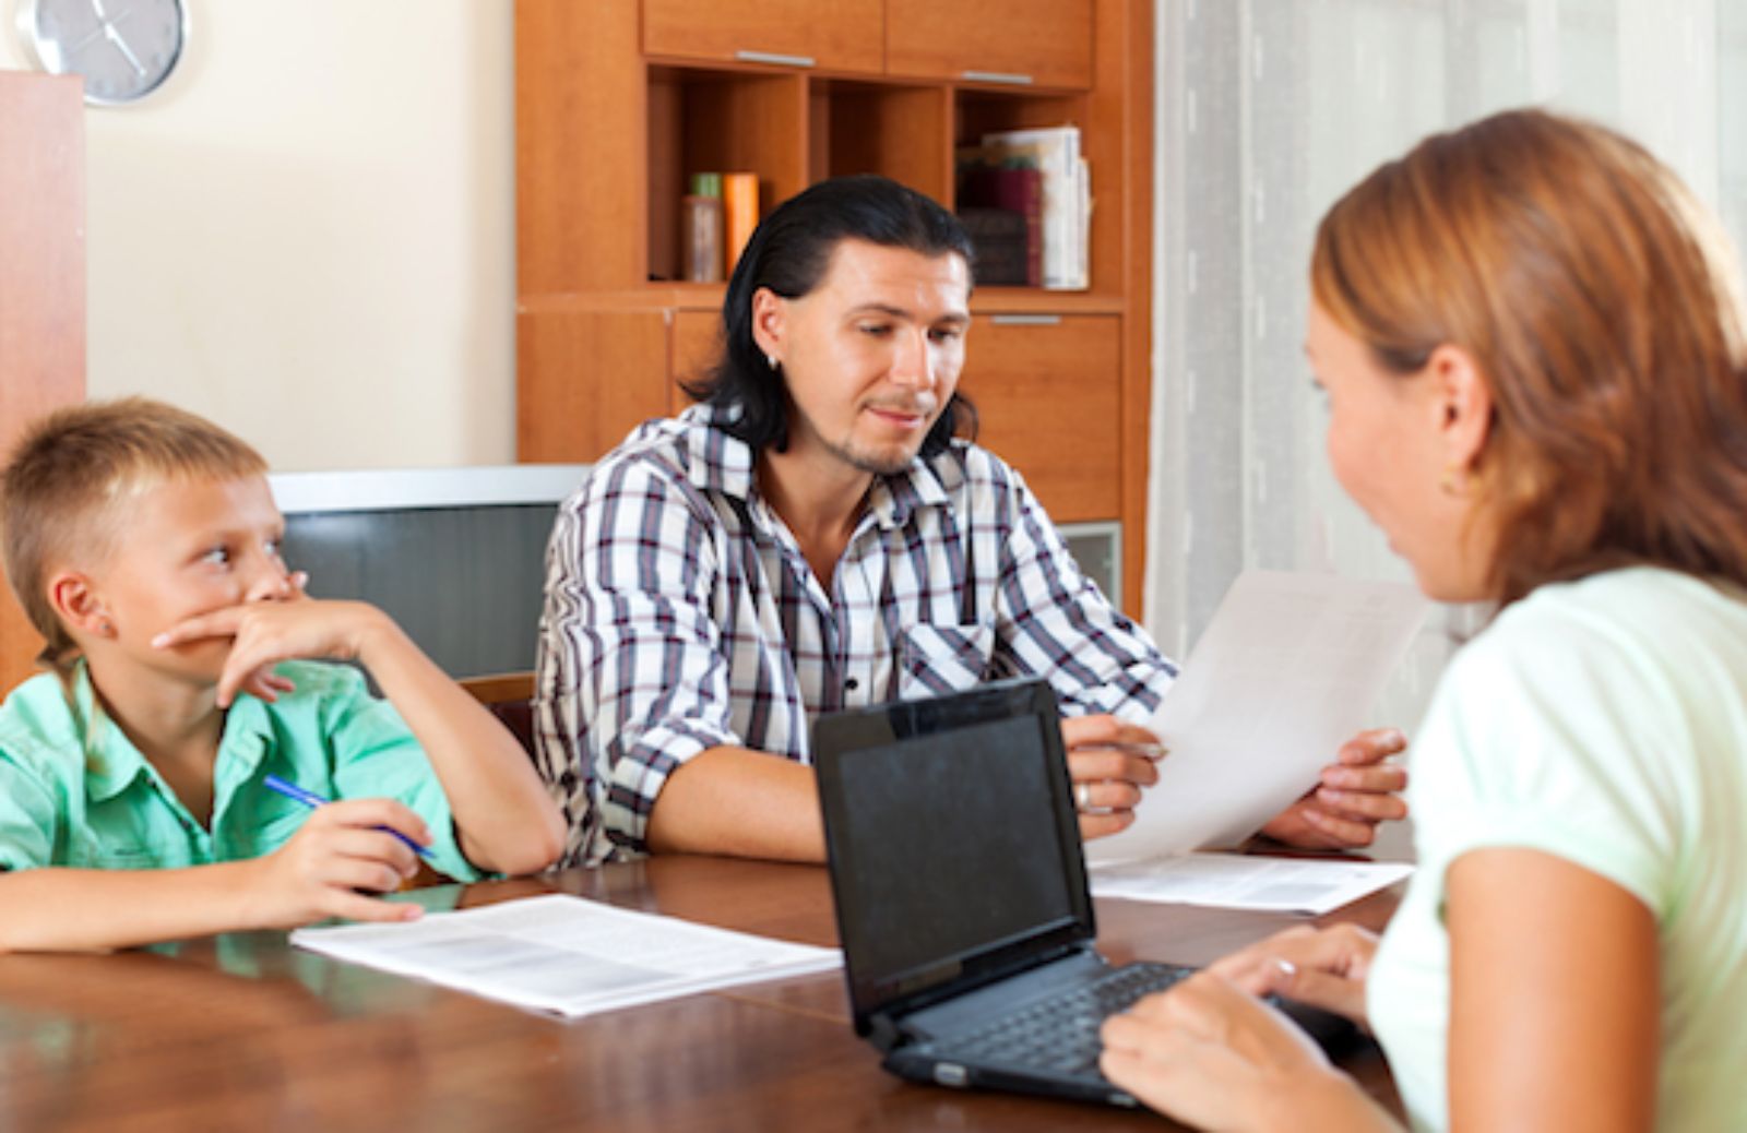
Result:
{"label": "pale short sleeve on the woman's near shoulder", "polygon": [[1452,662],[1412,763],[1420,868],[1469,850],[1539,850],[1668,913],[1681,829],[1658,756],[1653,674],[1621,642],[1557,616],[1495,627]]}

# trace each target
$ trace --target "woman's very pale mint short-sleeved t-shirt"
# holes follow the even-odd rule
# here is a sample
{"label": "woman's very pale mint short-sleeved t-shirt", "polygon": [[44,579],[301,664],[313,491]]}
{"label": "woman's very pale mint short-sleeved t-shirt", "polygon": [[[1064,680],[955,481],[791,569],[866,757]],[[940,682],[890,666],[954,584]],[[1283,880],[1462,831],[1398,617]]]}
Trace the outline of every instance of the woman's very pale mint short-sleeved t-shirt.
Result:
{"label": "woman's very pale mint short-sleeved t-shirt", "polygon": [[1410,770],[1420,866],[1368,1000],[1413,1126],[1448,1126],[1445,873],[1523,847],[1656,917],[1656,1128],[1747,1130],[1747,601],[1649,567],[1536,590],[1450,663]]}

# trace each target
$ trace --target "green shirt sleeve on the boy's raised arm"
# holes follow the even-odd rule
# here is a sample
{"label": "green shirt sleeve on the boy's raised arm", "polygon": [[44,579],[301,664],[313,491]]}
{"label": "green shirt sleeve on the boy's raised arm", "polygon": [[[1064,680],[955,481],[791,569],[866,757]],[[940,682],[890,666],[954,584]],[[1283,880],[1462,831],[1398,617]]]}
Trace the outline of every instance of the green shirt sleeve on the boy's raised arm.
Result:
{"label": "green shirt sleeve on the boy's raised arm", "polygon": [[432,831],[430,866],[458,882],[487,876],[461,852],[449,796],[418,737],[395,705],[370,695],[363,677],[334,667],[321,702],[321,724],[334,759],[339,798],[391,798]]}

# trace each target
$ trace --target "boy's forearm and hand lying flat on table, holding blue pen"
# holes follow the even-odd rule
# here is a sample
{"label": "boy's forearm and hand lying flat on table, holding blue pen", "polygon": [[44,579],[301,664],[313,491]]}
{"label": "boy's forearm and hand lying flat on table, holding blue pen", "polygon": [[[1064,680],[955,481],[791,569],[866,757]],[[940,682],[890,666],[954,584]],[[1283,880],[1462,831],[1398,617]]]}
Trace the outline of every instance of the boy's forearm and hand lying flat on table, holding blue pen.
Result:
{"label": "boy's forearm and hand lying flat on table, holding blue pen", "polygon": [[[384,829],[386,827],[386,829]],[[393,800],[351,800],[311,812],[283,847],[250,861],[182,869],[0,869],[0,951],[93,951],[248,929],[292,929],[348,917],[412,920],[391,892],[418,869],[390,831],[430,841]]]}

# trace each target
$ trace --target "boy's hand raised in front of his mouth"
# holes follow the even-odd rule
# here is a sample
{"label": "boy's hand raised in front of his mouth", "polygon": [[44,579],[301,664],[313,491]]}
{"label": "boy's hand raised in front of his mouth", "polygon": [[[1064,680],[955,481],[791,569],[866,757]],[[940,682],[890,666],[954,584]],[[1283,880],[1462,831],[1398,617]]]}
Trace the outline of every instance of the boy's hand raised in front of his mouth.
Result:
{"label": "boy's hand raised in front of his mouth", "polygon": [[152,646],[168,649],[190,641],[229,637],[231,656],[218,674],[218,707],[229,707],[243,690],[262,700],[288,691],[290,681],[273,674],[273,665],[309,656],[356,660],[369,637],[384,627],[393,623],[365,602],[246,602],[180,621],[154,637]]}

